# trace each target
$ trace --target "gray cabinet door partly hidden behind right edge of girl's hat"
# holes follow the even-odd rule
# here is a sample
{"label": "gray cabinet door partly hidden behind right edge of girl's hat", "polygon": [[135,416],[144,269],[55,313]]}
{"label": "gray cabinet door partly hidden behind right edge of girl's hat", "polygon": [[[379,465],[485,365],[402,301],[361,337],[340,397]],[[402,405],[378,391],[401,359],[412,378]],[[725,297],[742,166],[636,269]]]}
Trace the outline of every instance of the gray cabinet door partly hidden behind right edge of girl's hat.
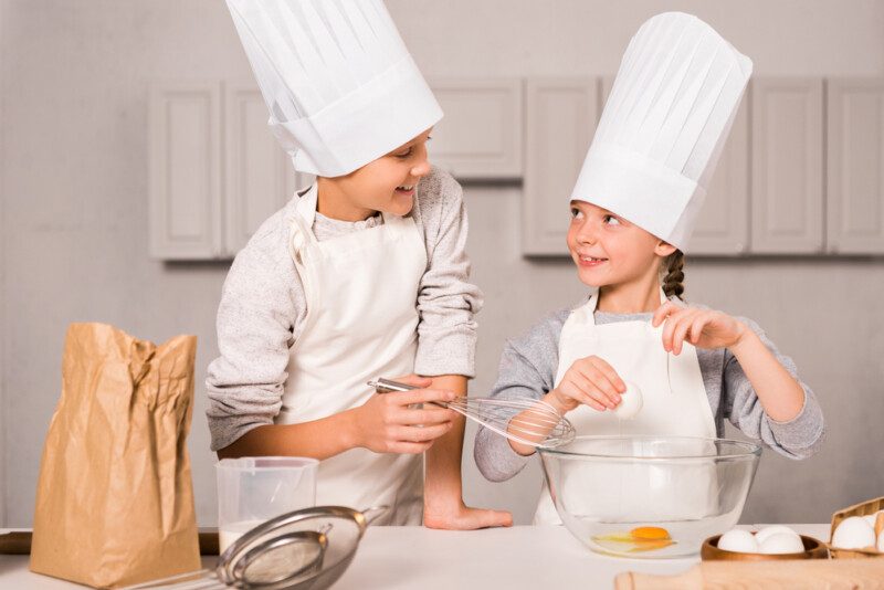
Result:
{"label": "gray cabinet door partly hidden behind right edge of girl's hat", "polygon": [[749,101],[743,97],[697,215],[688,252],[738,255],[749,247]]}

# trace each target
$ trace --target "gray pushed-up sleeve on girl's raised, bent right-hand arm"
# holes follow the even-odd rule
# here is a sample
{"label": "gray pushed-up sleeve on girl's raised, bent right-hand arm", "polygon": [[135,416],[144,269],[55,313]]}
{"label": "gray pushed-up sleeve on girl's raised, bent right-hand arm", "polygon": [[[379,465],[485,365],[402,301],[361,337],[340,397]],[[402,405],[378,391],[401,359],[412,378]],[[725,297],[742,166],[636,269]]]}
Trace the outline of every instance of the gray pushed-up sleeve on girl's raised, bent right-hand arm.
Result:
{"label": "gray pushed-up sleeve on girl's raised, bent right-hand arm", "polygon": [[819,451],[824,432],[822,410],[813,391],[798,379],[798,369],[791,358],[777,350],[776,345],[753,320],[740,318],[755,331],[777,360],[794,377],[804,390],[804,404],[801,411],[788,422],[777,422],[767,413],[753,389],[749,378],[729,350],[725,351],[724,364],[724,411],[747,436],[760,440],[777,453],[789,459],[807,459]]}

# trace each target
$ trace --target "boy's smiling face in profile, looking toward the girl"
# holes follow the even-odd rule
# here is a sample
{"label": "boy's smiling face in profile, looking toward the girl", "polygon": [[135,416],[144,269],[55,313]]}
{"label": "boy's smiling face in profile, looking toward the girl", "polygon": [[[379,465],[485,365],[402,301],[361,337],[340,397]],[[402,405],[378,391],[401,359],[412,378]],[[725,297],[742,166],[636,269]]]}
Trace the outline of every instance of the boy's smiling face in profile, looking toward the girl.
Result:
{"label": "boy's smiling face in profile, looking toward the girl", "polygon": [[319,212],[345,221],[367,219],[377,211],[408,214],[418,181],[430,172],[430,131],[432,128],[349,175],[320,177]]}

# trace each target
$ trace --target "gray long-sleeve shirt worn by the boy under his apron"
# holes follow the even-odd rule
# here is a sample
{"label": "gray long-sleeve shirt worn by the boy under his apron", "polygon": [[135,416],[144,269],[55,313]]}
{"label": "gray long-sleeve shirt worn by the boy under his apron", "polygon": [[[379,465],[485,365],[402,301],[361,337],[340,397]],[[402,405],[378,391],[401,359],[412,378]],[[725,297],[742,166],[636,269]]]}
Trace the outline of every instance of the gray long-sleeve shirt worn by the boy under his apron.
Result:
{"label": "gray long-sleeve shirt worn by the boy under his apron", "polygon": [[[293,198],[255,232],[231,265],[218,308],[220,356],[209,365],[209,431],[212,450],[250,430],[273,423],[288,375],[288,349],[307,314],[304,287],[288,251]],[[414,372],[424,376],[475,372],[476,323],[482,293],[469,282],[467,219],[461,186],[433,168],[418,183],[409,213],[427,246],[427,270],[415,306],[419,313]],[[376,215],[355,223],[316,215],[319,241],[382,223]]]}

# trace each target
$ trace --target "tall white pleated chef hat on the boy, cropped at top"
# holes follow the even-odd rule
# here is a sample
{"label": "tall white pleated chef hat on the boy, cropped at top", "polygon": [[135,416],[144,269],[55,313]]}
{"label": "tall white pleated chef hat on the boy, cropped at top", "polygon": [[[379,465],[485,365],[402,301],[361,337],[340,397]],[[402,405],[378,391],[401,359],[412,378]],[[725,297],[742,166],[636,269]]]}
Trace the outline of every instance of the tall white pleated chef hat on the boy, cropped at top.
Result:
{"label": "tall white pleated chef hat on the boy, cropped at top", "polygon": [[297,170],[349,173],[442,118],[381,0],[227,2]]}

